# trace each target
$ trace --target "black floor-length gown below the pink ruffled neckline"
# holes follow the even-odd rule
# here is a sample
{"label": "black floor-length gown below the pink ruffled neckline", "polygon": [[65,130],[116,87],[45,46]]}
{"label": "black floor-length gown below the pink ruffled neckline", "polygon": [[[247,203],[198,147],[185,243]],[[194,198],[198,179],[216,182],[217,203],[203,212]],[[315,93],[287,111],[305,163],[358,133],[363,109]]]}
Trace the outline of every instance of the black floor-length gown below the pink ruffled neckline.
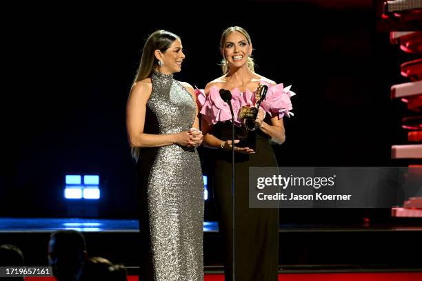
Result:
{"label": "black floor-length gown below the pink ruffled neckline", "polygon": [[[267,122],[270,122],[268,119]],[[232,139],[232,123],[219,122],[212,134],[222,141]],[[236,127],[255,154],[235,155],[235,271],[239,281],[276,281],[279,266],[279,209],[250,209],[249,167],[277,166],[268,137]],[[243,145],[246,146],[246,145]],[[232,280],[232,152],[216,150],[214,196],[219,213],[219,232],[223,240],[225,280]]]}

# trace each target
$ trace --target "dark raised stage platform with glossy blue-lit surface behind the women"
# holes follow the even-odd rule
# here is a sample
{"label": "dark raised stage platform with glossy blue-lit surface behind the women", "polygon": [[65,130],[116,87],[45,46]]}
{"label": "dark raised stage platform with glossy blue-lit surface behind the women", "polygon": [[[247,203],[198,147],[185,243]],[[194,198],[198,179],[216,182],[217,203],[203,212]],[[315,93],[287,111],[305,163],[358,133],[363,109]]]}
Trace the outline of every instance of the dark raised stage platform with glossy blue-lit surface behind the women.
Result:
{"label": "dark raised stage platform with glossy blue-lit surface behind the women", "polygon": [[[136,275],[139,264],[138,220],[104,218],[0,218],[0,244],[16,244],[26,262],[47,264],[50,233],[83,232],[90,256],[123,263]],[[203,224],[204,269],[221,273],[221,238],[217,222]],[[422,223],[281,224],[279,269],[282,273],[422,271]],[[421,279],[422,280],[422,279]]]}

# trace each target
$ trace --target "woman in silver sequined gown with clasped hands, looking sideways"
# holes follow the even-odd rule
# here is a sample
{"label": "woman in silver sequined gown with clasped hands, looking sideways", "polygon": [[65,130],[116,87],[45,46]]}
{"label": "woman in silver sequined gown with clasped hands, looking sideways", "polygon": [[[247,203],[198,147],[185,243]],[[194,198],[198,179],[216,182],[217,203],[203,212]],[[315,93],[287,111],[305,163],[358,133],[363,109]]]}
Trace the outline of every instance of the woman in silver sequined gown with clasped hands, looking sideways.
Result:
{"label": "woman in silver sequined gown with clasped hands, looking sideways", "polygon": [[177,35],[145,42],[126,125],[137,159],[142,281],[203,280],[203,177],[196,96],[173,79],[185,55]]}

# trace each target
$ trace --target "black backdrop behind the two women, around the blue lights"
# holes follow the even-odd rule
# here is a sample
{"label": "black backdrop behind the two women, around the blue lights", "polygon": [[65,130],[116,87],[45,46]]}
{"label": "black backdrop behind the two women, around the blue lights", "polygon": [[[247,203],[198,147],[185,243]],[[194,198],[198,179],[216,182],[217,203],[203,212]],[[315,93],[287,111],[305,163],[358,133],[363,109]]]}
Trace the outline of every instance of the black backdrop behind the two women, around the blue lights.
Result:
{"label": "black backdrop behind the two women, around the blue lights", "polygon": [[[279,165],[407,165],[390,159],[391,145],[406,142],[405,105],[390,100],[390,86],[408,82],[399,65],[416,57],[377,28],[376,3],[69,1],[2,9],[0,216],[69,216],[69,173],[100,175],[100,217],[137,216],[125,102],[143,43],[157,29],[181,37],[186,59],[175,78],[199,88],[221,75],[223,29],[248,30],[256,71],[297,93],[294,116],[284,118],[286,141],[274,147]],[[210,151],[200,153],[209,173]],[[206,210],[214,219],[212,200]],[[377,211],[329,209],[322,218],[291,209],[281,219],[360,220]]]}

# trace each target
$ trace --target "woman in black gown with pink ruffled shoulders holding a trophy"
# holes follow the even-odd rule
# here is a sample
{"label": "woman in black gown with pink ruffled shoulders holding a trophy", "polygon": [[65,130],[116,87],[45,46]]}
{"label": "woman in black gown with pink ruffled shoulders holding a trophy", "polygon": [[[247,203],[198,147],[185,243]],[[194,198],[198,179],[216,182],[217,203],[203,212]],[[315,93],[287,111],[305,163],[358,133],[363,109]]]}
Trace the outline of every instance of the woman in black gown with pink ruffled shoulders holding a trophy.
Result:
{"label": "woman in black gown with pink ruffled shoulders holding a trophy", "polygon": [[[255,120],[256,129],[245,129],[236,117],[235,139],[235,272],[232,270],[232,123],[230,112],[223,106],[220,89],[232,93],[234,115],[239,112],[239,101],[253,98],[259,84],[268,86],[272,98],[283,96],[290,101],[283,85],[254,72],[252,43],[249,34],[240,27],[226,29],[221,36],[223,55],[223,76],[211,81],[205,87],[205,95],[199,91],[202,102],[203,144],[218,149],[214,169],[214,196],[219,213],[219,232],[223,240],[225,280],[232,280],[235,274],[241,281],[275,281],[278,273],[279,209],[250,209],[248,206],[248,168],[254,166],[277,166],[271,143],[285,141],[283,114],[291,108],[277,107],[270,102],[266,111],[259,110]],[[202,94],[202,96],[201,96]],[[263,105],[263,103],[261,103]]]}

